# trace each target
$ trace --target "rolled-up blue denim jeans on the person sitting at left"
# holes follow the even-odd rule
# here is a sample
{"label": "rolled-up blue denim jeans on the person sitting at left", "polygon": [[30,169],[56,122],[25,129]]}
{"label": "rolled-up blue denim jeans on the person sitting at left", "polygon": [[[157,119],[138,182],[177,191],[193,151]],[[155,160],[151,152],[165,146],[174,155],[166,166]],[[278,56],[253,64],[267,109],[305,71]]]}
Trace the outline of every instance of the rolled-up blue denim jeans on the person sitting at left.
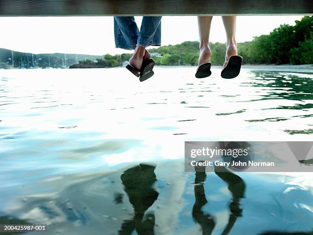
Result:
{"label": "rolled-up blue denim jeans on the person sitting at left", "polygon": [[144,16],[140,31],[133,16],[114,16],[115,47],[133,50],[142,47],[161,46],[162,16]]}

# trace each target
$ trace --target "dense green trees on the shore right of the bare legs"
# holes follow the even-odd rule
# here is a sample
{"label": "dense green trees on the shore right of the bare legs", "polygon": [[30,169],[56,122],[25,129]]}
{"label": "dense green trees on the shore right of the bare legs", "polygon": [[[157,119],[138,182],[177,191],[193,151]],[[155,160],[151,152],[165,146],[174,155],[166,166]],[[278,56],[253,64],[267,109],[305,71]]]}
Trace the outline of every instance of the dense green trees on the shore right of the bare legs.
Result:
{"label": "dense green trees on the shore right of the bare legs", "polygon": [[281,25],[269,35],[254,37],[252,42],[238,47],[249,63],[309,63],[311,61],[311,34],[313,16],[296,20],[295,26]]}

